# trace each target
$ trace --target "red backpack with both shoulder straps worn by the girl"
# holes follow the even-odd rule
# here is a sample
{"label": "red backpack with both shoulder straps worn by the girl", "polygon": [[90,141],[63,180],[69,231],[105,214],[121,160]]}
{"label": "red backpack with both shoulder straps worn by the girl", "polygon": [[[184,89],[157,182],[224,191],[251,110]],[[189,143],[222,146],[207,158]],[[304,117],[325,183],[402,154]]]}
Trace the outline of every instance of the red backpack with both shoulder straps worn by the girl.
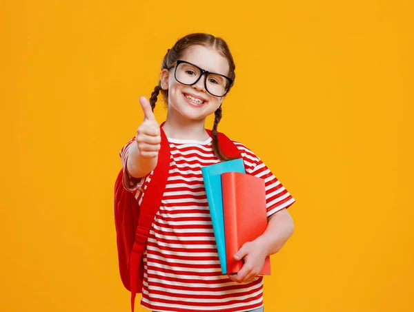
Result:
{"label": "red backpack with both shoulder straps worn by the girl", "polygon": [[[131,292],[132,312],[134,311],[135,295],[142,292],[144,280],[142,254],[146,247],[152,220],[161,205],[170,169],[170,145],[166,134],[161,127],[160,129],[161,149],[158,154],[158,163],[152,174],[151,182],[146,188],[141,205],[138,205],[134,194],[125,189],[122,183],[124,169],[119,171],[115,181],[115,229],[117,231],[119,273],[124,287]],[[211,136],[211,131],[206,131]],[[219,132],[218,140],[224,154],[231,158],[242,158],[239,149],[227,136]]]}

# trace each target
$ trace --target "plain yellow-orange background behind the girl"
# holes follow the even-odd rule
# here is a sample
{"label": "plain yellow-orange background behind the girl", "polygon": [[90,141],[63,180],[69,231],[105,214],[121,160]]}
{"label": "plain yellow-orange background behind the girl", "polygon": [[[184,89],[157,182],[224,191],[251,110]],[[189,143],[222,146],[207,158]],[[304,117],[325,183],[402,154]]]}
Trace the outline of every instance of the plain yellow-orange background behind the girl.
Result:
{"label": "plain yellow-orange background behind the girl", "polygon": [[237,65],[219,130],[297,200],[266,311],[414,311],[412,1],[7,2],[1,311],[129,311],[118,152],[166,50],[199,31]]}

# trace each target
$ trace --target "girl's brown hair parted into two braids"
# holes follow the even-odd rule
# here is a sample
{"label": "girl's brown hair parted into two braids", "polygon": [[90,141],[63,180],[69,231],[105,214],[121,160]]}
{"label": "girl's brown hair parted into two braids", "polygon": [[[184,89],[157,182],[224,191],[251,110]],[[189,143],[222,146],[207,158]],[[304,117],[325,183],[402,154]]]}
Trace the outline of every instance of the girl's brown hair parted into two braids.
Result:
{"label": "girl's brown hair parted into two braids", "polygon": [[[230,67],[228,77],[233,80],[233,84],[235,81],[235,62],[233,61],[233,56],[230,53],[230,50],[228,48],[228,45],[224,39],[221,39],[219,37],[214,37],[211,34],[204,34],[204,33],[195,33],[195,34],[188,34],[185,37],[182,37],[179,39],[175,45],[168,49],[166,56],[164,56],[164,60],[162,61],[161,70],[168,69],[171,67],[172,63],[177,61],[181,58],[181,56],[184,54],[184,51],[188,48],[190,48],[193,45],[202,45],[207,48],[215,48],[221,56],[225,57],[228,61],[228,65]],[[230,88],[233,85],[230,85]],[[230,90],[230,89],[229,89]],[[161,88],[161,81],[159,81],[158,85],[154,88],[154,91],[151,94],[150,97],[150,104],[152,107],[152,111],[155,108],[155,103],[157,103],[157,97],[158,94],[161,92],[161,96],[163,96],[163,99],[165,103],[168,103],[168,90],[163,90]],[[212,129],[212,136],[213,136],[213,152],[217,158],[219,158],[222,161],[231,160],[233,158],[230,158],[226,156],[219,147],[219,141],[217,138],[217,127],[219,125],[219,122],[221,121],[221,105],[220,107],[215,111],[215,119],[214,119],[214,125]]]}

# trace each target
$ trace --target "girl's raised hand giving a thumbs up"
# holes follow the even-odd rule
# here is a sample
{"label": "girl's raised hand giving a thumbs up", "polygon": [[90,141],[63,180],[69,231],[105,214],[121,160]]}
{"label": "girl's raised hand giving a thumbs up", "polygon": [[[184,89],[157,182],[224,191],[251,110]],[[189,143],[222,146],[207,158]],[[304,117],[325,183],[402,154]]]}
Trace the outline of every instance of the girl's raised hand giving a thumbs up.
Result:
{"label": "girl's raised hand giving a thumbs up", "polygon": [[152,112],[150,102],[144,97],[139,98],[142,111],[144,112],[144,121],[137,128],[137,135],[135,136],[139,156],[142,158],[155,158],[158,156],[161,148],[161,132],[159,125],[155,120]]}

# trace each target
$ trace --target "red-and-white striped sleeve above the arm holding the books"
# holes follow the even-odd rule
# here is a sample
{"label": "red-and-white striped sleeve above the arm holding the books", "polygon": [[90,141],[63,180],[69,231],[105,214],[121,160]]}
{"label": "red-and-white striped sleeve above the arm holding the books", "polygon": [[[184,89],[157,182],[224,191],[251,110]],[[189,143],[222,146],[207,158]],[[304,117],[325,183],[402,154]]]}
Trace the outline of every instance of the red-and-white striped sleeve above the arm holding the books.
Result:
{"label": "red-and-white striped sleeve above the arm holding the books", "polygon": [[277,180],[270,169],[248,147],[242,143],[233,142],[242,152],[246,174],[263,178],[265,181],[267,216],[271,216],[281,209],[290,207],[295,202],[295,198],[289,194],[288,190]]}

